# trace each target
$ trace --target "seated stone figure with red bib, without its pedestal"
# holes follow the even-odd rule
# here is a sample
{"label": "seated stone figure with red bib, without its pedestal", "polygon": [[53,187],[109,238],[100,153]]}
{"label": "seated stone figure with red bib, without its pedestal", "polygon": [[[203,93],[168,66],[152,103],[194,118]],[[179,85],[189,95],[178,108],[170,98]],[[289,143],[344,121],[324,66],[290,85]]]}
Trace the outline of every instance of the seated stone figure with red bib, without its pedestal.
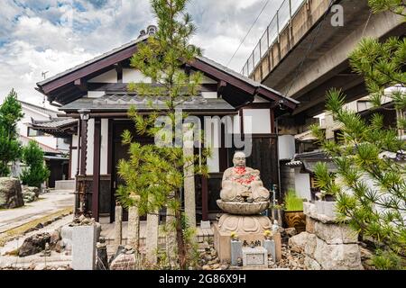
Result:
{"label": "seated stone figure with red bib, without its pedestal", "polygon": [[259,170],[245,166],[245,154],[235,152],[234,167],[223,175],[221,200],[225,202],[265,202],[270,193],[263,187]]}

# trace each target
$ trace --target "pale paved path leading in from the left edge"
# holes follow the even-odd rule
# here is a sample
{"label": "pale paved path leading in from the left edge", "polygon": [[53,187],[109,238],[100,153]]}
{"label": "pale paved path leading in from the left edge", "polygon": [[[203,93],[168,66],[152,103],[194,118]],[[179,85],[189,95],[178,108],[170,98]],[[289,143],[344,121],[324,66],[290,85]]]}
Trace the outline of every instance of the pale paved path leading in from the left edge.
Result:
{"label": "pale paved path leading in from the left edge", "polygon": [[23,207],[0,211],[0,234],[9,230],[55,213],[62,209],[73,207],[74,194],[67,190],[51,191],[40,195],[39,201],[25,204]]}

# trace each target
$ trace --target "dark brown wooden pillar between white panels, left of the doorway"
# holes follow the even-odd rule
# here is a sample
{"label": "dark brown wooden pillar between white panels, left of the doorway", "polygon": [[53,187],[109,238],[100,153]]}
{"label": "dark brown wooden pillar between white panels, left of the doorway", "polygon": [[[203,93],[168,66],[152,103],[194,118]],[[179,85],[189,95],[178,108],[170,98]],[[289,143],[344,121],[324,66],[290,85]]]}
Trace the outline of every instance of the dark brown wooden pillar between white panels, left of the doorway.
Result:
{"label": "dark brown wooden pillar between white panels, left of the doorway", "polygon": [[98,221],[98,206],[100,194],[100,145],[101,145],[101,120],[95,119],[94,132],[94,156],[93,156],[93,193],[92,193],[92,216]]}

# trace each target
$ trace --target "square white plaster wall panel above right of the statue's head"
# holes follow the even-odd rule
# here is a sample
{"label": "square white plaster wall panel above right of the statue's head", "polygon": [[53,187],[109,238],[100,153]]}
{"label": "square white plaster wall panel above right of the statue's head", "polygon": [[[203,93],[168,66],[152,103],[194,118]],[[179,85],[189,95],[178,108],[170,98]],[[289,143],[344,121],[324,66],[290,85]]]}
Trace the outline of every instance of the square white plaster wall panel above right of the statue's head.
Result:
{"label": "square white plaster wall panel above right of the statue's head", "polygon": [[269,109],[244,109],[244,132],[251,134],[271,133]]}

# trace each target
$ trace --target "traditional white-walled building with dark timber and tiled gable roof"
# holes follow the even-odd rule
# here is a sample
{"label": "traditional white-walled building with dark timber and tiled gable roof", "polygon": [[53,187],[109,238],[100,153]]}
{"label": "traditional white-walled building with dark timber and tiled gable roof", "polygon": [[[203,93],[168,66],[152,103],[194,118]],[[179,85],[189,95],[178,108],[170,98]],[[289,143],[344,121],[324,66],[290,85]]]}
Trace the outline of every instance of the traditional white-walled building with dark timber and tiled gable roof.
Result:
{"label": "traditional white-walled building with dark timber and tiled gable roof", "polygon": [[[128,157],[127,147],[122,145],[123,131],[132,131],[134,139],[142,143],[152,141],[136,134],[134,123],[127,115],[129,107],[134,104],[138,112],[150,112],[148,96],[127,90],[130,82],[143,81],[156,85],[130,67],[129,59],[134,55],[137,44],[148,37],[153,36],[140,35],[136,40],[37,84],[37,90],[70,117],[66,119],[71,121],[70,124],[59,131],[70,134],[72,139],[70,177],[78,180],[78,195],[88,195],[86,210],[92,211],[96,219],[110,216],[110,220],[114,220],[115,189],[123,183],[117,175],[116,165],[119,159]],[[182,109],[198,117],[206,133],[210,130],[211,120],[229,116],[231,122],[217,126],[217,130],[211,130],[206,137],[220,144],[225,144],[230,135],[251,139],[252,153],[247,158],[247,166],[261,171],[267,188],[279,184],[275,119],[291,112],[298,102],[209,58],[198,57],[183,68],[187,73],[202,72],[204,80],[198,96],[183,103]],[[153,100],[164,107],[160,99]],[[80,121],[79,129],[75,128],[75,121]],[[45,127],[46,124],[34,126],[40,130],[51,129]],[[208,179],[196,177],[198,220],[215,219],[220,211],[216,200],[219,198],[222,173],[233,165],[233,154],[240,149],[236,144],[233,140],[230,147],[219,145],[214,148],[213,156],[208,160]],[[78,196],[77,209],[79,202]]]}

